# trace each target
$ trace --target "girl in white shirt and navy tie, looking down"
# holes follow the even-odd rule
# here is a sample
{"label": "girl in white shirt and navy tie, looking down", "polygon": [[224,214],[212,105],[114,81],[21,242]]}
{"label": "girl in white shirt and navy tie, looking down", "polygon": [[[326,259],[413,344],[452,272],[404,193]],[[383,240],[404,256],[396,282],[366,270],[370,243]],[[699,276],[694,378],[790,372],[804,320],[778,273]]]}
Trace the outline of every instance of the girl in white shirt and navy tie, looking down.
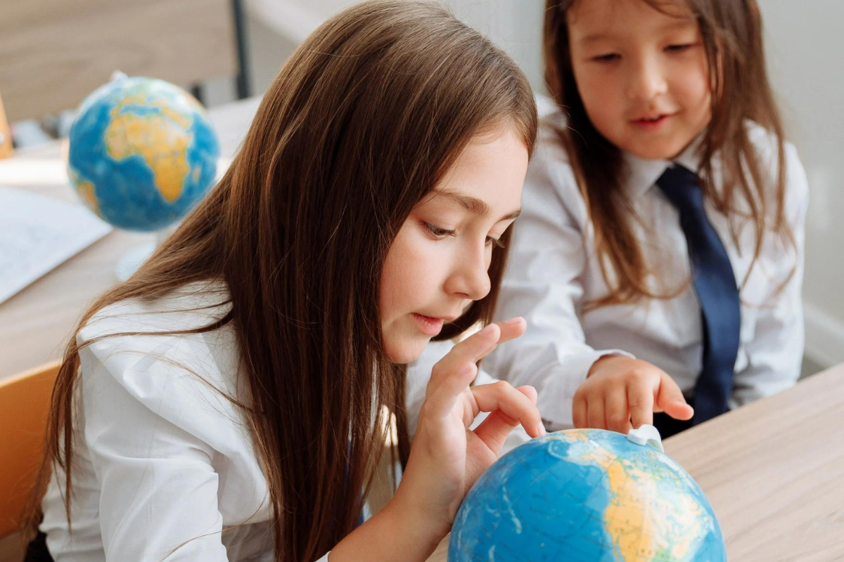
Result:
{"label": "girl in white shirt and navy tie, looking down", "polygon": [[498,312],[527,333],[488,370],[552,427],[663,436],[792,385],[807,181],[755,0],[547,0],[544,49]]}

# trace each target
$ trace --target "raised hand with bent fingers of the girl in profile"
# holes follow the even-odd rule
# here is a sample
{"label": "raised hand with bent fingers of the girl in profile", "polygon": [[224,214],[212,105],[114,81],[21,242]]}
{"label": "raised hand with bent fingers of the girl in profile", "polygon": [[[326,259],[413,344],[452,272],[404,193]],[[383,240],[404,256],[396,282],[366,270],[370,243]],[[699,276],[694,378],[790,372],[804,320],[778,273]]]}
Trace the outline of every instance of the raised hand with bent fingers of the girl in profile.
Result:
{"label": "raised hand with bent fingers of the girl in profile", "polygon": [[[523,318],[490,324],[455,345],[431,372],[408,465],[391,504],[414,513],[419,525],[437,529],[441,536],[514,427],[521,424],[533,437],[545,433],[533,387],[513,388],[504,382],[469,386],[478,374],[477,362],[524,331]],[[470,431],[480,412],[490,415]]]}

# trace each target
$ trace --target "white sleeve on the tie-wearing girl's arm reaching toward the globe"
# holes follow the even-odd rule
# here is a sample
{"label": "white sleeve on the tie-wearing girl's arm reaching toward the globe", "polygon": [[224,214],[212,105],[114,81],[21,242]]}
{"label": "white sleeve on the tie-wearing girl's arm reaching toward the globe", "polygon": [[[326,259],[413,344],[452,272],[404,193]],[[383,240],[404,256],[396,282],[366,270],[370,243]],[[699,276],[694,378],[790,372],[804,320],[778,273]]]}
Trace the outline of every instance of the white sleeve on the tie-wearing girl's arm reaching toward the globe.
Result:
{"label": "white sleeve on the tie-wearing girl's arm reaching toward the globe", "polygon": [[587,210],[556,133],[545,128],[530,163],[522,214],[514,225],[496,320],[523,316],[527,332],[499,345],[484,368],[532,385],[550,430],[571,426],[571,401],[592,363],[620,350],[587,345],[578,315],[587,268]]}

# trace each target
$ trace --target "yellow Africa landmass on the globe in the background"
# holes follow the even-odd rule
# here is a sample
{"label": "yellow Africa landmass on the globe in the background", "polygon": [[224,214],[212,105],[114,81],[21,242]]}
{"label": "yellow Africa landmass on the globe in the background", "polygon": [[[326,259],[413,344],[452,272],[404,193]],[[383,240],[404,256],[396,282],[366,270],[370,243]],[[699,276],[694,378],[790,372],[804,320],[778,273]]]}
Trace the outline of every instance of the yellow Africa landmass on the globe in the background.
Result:
{"label": "yellow Africa landmass on the globe in the background", "polygon": [[[121,160],[140,155],[153,170],[154,182],[161,195],[166,201],[176,201],[190,171],[187,147],[192,139],[186,132],[190,120],[160,102],[152,103],[161,109],[160,114],[121,114],[121,107],[132,99],[124,99],[121,106],[111,110],[111,123],[106,129],[109,156]],[[143,99],[138,96],[133,103],[142,102]]]}

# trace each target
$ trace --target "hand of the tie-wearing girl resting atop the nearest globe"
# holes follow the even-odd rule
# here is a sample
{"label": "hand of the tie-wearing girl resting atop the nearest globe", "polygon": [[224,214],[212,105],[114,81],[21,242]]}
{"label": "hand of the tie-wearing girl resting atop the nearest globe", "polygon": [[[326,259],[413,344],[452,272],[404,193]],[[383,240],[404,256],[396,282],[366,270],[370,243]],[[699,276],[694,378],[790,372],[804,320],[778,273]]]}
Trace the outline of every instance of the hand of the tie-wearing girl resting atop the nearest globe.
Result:
{"label": "hand of the tie-wearing girl resting atop the nearest globe", "polygon": [[624,356],[595,361],[572,404],[575,427],[625,434],[652,424],[653,413],[663,411],[675,420],[690,420],[695,414],[668,373],[647,361]]}

